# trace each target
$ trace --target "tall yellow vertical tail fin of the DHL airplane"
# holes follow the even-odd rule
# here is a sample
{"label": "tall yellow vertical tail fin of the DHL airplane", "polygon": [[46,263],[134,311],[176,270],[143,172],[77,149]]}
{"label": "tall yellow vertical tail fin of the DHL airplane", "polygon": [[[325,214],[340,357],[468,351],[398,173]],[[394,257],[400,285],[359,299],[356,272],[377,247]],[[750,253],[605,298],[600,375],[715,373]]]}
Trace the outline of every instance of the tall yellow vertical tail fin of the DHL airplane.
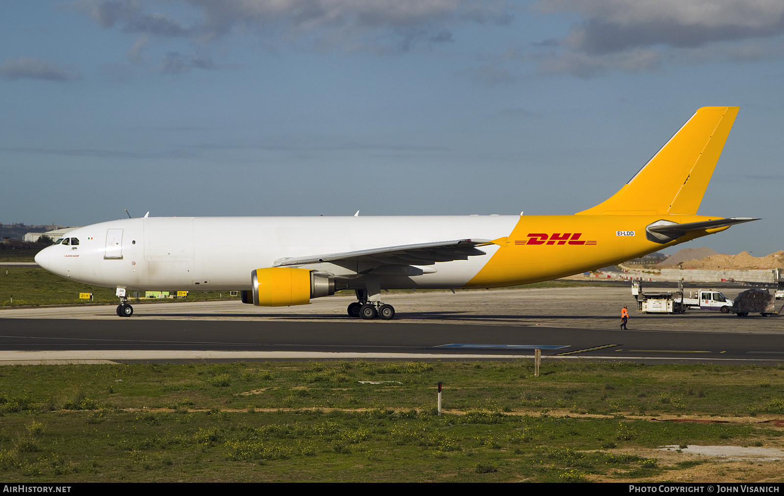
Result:
{"label": "tall yellow vertical tail fin of the DHL airplane", "polygon": [[738,107],[703,107],[615,195],[577,215],[697,213]]}

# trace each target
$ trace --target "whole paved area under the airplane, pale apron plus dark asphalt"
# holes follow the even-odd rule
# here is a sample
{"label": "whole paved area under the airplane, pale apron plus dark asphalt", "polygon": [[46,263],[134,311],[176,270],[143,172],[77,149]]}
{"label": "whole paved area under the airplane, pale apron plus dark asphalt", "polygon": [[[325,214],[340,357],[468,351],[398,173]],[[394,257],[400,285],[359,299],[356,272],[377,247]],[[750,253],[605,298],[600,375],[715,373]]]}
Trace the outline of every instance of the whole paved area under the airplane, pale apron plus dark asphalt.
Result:
{"label": "whole paved area under the airplane, pale apron plus dark asphalt", "polygon": [[[734,296],[725,290],[728,296]],[[385,294],[394,320],[350,319],[354,299],[256,308],[238,301],[0,308],[0,363],[300,359],[633,359],[782,363],[784,319],[719,312],[645,315],[630,288],[571,287]],[[631,305],[629,305],[631,304]]]}

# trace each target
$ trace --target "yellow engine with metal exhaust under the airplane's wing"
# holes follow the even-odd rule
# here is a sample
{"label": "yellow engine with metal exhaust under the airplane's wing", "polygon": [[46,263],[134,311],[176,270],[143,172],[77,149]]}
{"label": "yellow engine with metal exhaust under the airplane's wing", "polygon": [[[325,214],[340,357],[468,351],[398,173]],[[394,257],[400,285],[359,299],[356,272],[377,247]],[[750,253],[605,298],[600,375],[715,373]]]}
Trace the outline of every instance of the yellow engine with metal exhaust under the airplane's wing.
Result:
{"label": "yellow engine with metal exhaust under the airplane's wing", "polygon": [[[307,305],[310,298],[335,294],[335,279],[327,272],[316,272],[307,268],[270,267],[256,269],[250,274],[252,303],[257,307]],[[245,303],[251,295],[243,296]]]}

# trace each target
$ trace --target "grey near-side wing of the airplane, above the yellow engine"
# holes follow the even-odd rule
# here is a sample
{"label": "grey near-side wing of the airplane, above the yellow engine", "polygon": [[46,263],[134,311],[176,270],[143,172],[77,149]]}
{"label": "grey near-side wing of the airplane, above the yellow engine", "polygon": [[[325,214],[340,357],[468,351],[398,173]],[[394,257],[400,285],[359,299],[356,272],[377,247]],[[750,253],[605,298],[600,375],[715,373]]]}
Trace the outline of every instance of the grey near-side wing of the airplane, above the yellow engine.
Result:
{"label": "grey near-side wing of the airplane, above the yellow engine", "polygon": [[436,262],[468,260],[468,257],[485,255],[476,246],[494,244],[489,239],[456,239],[435,243],[419,243],[416,245],[384,246],[370,250],[347,251],[344,253],[328,253],[314,257],[281,258],[274,262],[273,267],[288,265],[320,264],[323,262],[365,262],[383,265],[432,265]]}

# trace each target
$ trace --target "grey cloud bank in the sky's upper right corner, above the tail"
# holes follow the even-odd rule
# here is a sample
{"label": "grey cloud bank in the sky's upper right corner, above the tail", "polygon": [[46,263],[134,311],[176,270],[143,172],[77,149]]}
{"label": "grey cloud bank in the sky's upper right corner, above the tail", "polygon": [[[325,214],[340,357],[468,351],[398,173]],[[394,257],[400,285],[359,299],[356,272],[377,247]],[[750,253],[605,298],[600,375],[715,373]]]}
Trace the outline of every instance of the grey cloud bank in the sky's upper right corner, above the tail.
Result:
{"label": "grey cloud bank in the sky's upper right corner, above the tail", "polygon": [[[662,61],[782,57],[780,0],[540,0],[544,14],[576,13],[563,38],[539,44],[539,70],[591,77],[654,70]],[[779,39],[776,39],[779,38]]]}

